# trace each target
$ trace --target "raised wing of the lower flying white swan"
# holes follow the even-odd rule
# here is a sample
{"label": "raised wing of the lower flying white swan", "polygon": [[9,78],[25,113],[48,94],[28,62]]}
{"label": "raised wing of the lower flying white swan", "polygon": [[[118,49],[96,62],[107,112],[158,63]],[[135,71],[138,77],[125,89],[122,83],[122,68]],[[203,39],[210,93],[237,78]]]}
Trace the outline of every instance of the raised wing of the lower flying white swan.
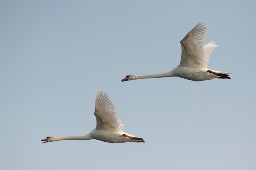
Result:
{"label": "raised wing of the lower flying white swan", "polygon": [[97,126],[96,129],[113,130],[124,129],[124,124],[120,121],[114,104],[106,93],[96,91],[95,111]]}

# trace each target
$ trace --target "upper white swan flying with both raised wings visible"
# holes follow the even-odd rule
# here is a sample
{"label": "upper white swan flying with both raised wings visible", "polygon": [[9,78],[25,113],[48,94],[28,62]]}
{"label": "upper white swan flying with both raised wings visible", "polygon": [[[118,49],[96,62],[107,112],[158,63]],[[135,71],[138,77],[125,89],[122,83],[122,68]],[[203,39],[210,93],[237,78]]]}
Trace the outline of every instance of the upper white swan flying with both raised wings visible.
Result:
{"label": "upper white swan flying with both raised wings visible", "polygon": [[162,74],[136,75],[129,74],[121,81],[141,78],[160,78],[178,76],[193,81],[210,80],[213,78],[228,78],[228,72],[220,72],[207,68],[212,51],[218,46],[215,42],[204,45],[207,27],[199,22],[181,41],[180,65],[170,72]]}

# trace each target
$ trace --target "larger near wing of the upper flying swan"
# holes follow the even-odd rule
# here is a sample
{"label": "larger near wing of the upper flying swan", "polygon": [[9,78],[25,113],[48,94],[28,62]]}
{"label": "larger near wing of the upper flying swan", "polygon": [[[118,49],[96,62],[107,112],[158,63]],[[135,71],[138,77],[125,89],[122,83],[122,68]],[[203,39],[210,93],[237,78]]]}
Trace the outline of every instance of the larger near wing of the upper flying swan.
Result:
{"label": "larger near wing of the upper flying swan", "polygon": [[207,27],[199,22],[186,37],[181,41],[181,61],[180,66],[185,67],[207,67],[209,59],[205,58],[204,39]]}

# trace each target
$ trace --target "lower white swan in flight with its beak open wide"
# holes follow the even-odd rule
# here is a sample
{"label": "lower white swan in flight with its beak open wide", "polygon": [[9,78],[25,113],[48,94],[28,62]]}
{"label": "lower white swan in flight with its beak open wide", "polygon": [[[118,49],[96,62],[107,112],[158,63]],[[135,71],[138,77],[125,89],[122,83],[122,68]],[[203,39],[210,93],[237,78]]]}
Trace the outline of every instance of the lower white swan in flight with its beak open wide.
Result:
{"label": "lower white swan in flight with its beak open wide", "polygon": [[94,115],[97,121],[96,128],[85,136],[46,137],[41,141],[46,143],[60,140],[97,139],[109,143],[145,142],[142,138],[123,131],[124,124],[119,120],[115,106],[106,93],[96,91]]}

